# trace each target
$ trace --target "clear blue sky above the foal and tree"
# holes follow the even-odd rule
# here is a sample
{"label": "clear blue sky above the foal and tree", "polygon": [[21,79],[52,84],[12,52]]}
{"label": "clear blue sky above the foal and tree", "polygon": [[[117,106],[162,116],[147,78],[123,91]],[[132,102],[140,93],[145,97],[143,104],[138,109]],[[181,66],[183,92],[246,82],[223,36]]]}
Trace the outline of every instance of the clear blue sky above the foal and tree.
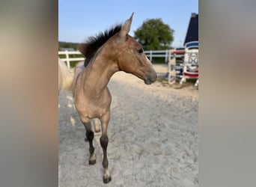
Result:
{"label": "clear blue sky above the foal and tree", "polygon": [[86,37],[124,23],[132,12],[131,36],[146,19],[161,18],[174,29],[171,46],[179,47],[185,40],[191,13],[198,13],[198,0],[59,0],[58,40],[81,43]]}

